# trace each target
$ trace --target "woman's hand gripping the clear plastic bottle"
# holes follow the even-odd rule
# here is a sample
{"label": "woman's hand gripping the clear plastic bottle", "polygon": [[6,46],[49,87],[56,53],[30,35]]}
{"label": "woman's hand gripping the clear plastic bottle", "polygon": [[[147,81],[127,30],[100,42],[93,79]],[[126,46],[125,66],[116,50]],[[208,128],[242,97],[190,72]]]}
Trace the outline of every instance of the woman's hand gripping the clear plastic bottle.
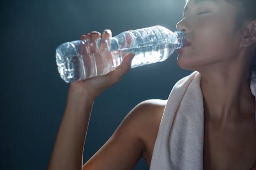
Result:
{"label": "woman's hand gripping the clear plastic bottle", "polygon": [[[95,59],[99,59],[99,60],[104,59],[106,61],[112,60],[111,52],[104,52],[104,56],[101,56],[101,53],[96,53],[99,51],[109,50],[109,47],[111,44],[108,41],[108,38],[112,37],[111,31],[105,30],[102,33],[101,44],[98,48],[97,40],[98,38],[100,38],[100,36],[101,34],[97,31],[92,31],[91,33],[82,35],[81,40],[85,40],[84,41],[85,44],[83,44],[79,48],[79,53],[82,53],[83,55],[94,53],[94,55],[97,55],[97,56],[94,56]],[[123,43],[121,45],[121,48],[130,47],[131,43],[132,43],[131,41],[128,41],[128,43],[127,42]],[[124,74],[129,71],[133,57],[134,57],[133,53],[128,53],[126,56],[124,56],[124,59],[121,65],[115,68],[115,70],[110,71],[106,75],[101,75],[98,77],[93,77],[93,78],[85,79],[82,81],[70,83],[70,90],[79,91],[80,93],[85,92],[87,95],[89,95],[88,97],[94,100],[100,93],[105,91],[108,87],[112,86],[113,84],[121,80]]]}

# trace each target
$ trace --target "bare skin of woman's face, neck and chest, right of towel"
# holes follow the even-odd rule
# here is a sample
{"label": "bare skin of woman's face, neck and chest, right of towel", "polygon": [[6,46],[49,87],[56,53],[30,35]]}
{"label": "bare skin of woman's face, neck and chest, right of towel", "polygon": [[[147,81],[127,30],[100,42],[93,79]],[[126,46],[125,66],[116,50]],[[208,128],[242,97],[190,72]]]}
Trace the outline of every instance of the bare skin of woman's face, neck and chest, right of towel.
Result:
{"label": "bare skin of woman's face, neck and chest, right of towel", "polygon": [[237,30],[236,13],[226,0],[189,0],[177,24],[191,42],[178,50],[177,64],[201,74],[207,170],[250,170],[256,163],[256,106],[247,55],[256,42],[256,21]]}

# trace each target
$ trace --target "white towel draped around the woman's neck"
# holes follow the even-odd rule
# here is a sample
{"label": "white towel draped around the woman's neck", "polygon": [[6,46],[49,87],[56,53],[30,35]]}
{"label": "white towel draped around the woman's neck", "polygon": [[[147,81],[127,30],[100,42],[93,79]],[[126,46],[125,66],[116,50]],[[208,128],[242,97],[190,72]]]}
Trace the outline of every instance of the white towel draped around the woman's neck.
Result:
{"label": "white towel draped around the woman's neck", "polygon": [[[201,75],[180,79],[168,97],[153,149],[150,170],[202,170],[204,106]],[[251,82],[255,96],[256,84]]]}

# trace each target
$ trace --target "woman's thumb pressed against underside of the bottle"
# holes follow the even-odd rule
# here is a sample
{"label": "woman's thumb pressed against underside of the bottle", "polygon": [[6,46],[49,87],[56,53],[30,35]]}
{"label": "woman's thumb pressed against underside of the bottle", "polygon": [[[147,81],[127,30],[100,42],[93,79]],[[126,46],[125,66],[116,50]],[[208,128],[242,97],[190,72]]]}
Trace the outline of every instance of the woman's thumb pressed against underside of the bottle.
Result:
{"label": "woman's thumb pressed against underside of the bottle", "polygon": [[125,57],[123,62],[120,66],[118,66],[114,71],[111,71],[106,76],[108,77],[107,83],[108,85],[115,84],[119,82],[121,78],[124,76],[126,72],[130,70],[131,62],[133,57],[135,56],[134,53],[128,53]]}

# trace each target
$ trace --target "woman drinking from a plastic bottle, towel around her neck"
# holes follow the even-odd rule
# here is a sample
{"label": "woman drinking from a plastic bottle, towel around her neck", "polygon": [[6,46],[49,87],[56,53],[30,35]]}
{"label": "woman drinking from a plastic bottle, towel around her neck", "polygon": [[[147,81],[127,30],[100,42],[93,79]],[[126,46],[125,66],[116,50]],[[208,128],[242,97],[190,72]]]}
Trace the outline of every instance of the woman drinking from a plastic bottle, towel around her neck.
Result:
{"label": "woman drinking from a plastic bottle, towel around her neck", "polygon": [[[177,64],[198,71],[204,105],[203,168],[252,170],[256,163],[255,0],[189,0],[177,30],[191,42],[178,50]],[[97,40],[93,31],[82,40]],[[111,37],[105,30],[102,39]],[[101,44],[100,50],[105,49]],[[90,46],[90,52],[97,51]],[[67,105],[48,170],[132,170],[141,157],[148,166],[167,100],[141,102],[84,165],[83,146],[94,99],[129,70],[133,54],[107,75],[70,84]],[[110,113],[111,114],[111,113]]]}

